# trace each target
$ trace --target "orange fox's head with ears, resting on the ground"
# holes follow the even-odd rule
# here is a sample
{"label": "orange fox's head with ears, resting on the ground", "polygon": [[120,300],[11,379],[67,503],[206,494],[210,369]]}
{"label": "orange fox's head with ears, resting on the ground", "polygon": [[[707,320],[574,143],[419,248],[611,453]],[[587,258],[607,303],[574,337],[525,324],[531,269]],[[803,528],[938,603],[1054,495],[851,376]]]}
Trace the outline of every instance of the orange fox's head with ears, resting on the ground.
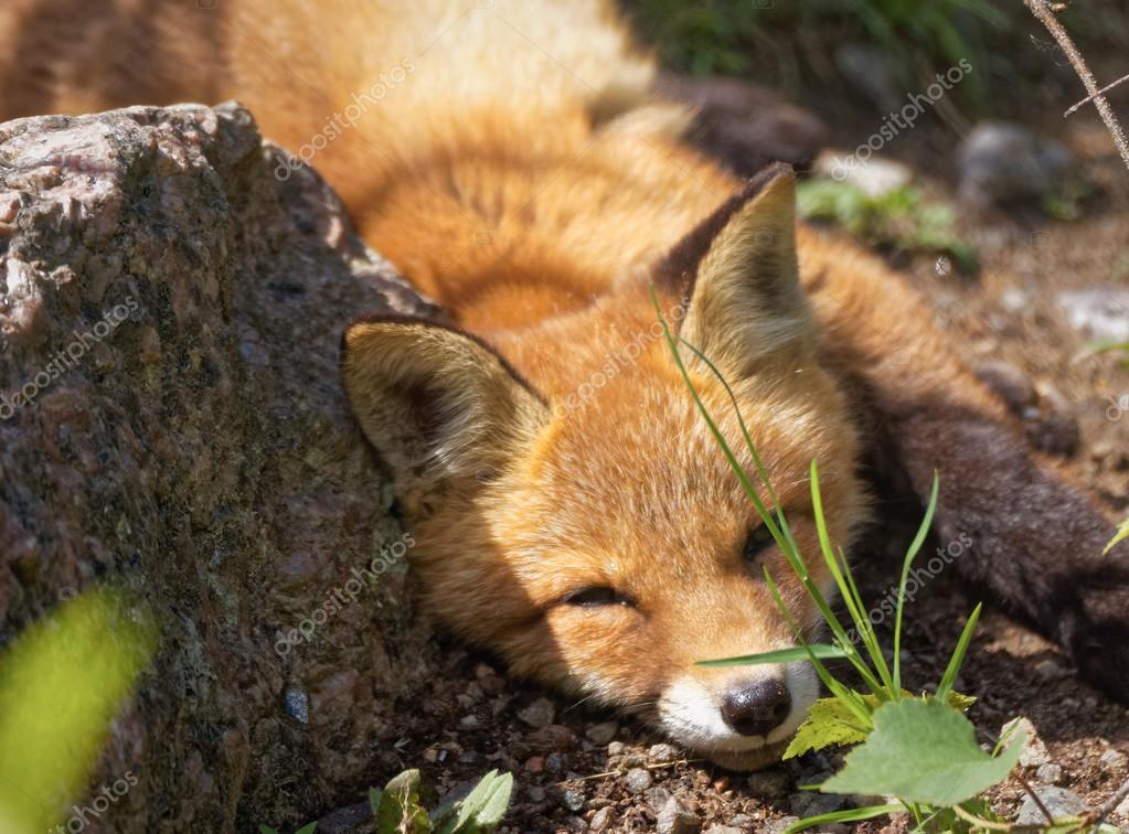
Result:
{"label": "orange fox's head with ears, resting on the ground", "polygon": [[[536,331],[488,343],[377,317],[344,337],[345,388],[393,469],[430,611],[514,671],[641,713],[734,769],[779,756],[817,678],[805,662],[698,661],[795,644],[765,568],[798,627],[811,635],[820,617],[699,414],[647,289],[732,388],[812,579],[830,595],[809,462],[837,544],[849,544],[865,498],[795,240],[793,175],[774,168],[644,280]],[[695,352],[683,358],[754,473],[725,385]]]}

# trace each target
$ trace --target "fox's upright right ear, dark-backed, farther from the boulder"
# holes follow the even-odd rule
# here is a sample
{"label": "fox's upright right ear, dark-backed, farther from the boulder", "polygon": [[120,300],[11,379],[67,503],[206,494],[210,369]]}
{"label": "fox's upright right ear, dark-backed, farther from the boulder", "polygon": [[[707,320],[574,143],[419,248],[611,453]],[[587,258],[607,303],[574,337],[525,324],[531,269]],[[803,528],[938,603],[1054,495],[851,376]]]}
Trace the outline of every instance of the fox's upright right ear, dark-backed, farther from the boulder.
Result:
{"label": "fox's upright right ear, dark-backed, farther from the boulder", "polygon": [[814,324],[796,261],[796,178],[762,170],[682,240],[660,269],[689,295],[681,336],[727,376],[804,355]]}

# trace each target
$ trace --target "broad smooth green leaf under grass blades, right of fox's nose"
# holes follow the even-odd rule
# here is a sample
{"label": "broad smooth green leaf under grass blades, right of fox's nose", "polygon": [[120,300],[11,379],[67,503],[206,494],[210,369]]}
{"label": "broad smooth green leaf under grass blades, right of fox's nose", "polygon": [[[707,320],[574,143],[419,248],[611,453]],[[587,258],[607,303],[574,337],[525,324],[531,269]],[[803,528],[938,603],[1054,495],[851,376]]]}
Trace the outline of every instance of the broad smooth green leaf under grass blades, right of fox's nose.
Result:
{"label": "broad smooth green leaf under grass blades, right of fox's nose", "polygon": [[937,700],[892,701],[875,711],[866,743],[847,754],[847,764],[820,790],[954,806],[1004,781],[1019,761],[1024,736],[1015,734],[992,757],[959,710]]}

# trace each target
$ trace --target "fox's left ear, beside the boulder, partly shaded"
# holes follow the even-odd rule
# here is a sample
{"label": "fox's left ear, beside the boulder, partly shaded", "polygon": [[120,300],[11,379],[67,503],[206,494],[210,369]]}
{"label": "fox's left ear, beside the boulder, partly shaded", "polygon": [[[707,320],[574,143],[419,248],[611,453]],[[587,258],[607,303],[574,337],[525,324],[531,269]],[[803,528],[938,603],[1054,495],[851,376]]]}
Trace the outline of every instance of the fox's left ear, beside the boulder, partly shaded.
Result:
{"label": "fox's left ear, beside the boulder, partly shaded", "polygon": [[489,480],[548,416],[543,401],[492,349],[422,319],[350,326],[342,374],[361,431],[400,486]]}

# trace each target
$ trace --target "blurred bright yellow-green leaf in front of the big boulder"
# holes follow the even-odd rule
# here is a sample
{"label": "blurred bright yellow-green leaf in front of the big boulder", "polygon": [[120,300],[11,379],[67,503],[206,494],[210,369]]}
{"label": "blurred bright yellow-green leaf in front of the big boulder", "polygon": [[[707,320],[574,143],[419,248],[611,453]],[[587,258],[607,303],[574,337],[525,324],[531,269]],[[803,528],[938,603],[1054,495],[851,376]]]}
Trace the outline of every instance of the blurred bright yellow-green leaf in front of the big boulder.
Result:
{"label": "blurred bright yellow-green leaf in front of the big boulder", "polygon": [[0,655],[0,833],[46,831],[86,792],[110,722],[155,644],[140,609],[95,589]]}

